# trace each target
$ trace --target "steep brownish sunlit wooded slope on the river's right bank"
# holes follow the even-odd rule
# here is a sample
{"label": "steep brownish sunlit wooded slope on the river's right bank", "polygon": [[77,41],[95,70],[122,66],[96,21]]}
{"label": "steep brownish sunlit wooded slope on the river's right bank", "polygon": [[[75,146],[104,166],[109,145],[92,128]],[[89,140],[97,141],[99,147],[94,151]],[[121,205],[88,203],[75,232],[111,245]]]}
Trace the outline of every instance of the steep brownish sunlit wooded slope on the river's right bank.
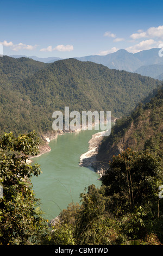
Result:
{"label": "steep brownish sunlit wooded slope on the river's right bank", "polygon": [[[130,148],[134,151],[149,150],[163,156],[163,87],[145,105],[140,104],[126,118],[117,120],[111,135],[105,137],[97,155],[98,168],[108,167],[113,155]],[[163,159],[162,159],[163,160]]]}

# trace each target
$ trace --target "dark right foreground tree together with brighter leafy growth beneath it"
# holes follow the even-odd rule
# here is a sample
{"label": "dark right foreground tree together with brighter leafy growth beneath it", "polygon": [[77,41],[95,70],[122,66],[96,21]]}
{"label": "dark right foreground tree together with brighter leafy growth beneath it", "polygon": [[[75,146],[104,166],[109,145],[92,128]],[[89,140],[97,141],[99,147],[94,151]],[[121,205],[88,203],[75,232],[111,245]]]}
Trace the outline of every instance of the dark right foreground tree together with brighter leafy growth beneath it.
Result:
{"label": "dark right foreground tree together with brighter leafy growth beneath it", "polygon": [[[128,239],[155,233],[162,242],[161,159],[148,151],[127,149],[112,157],[102,176],[106,210],[120,221]],[[162,199],[161,199],[162,200]]]}

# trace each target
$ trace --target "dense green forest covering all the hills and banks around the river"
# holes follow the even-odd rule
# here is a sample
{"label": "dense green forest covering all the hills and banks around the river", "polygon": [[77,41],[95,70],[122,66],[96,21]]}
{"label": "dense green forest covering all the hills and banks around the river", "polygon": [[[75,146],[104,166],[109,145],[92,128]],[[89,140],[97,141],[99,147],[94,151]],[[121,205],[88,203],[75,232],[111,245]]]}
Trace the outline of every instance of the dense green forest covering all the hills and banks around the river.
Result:
{"label": "dense green forest covering all the hills and banks around the river", "polygon": [[[0,245],[162,245],[161,82],[75,59],[0,61]],[[102,186],[49,223],[30,180],[41,168],[28,156],[65,106],[121,118],[99,146]]]}

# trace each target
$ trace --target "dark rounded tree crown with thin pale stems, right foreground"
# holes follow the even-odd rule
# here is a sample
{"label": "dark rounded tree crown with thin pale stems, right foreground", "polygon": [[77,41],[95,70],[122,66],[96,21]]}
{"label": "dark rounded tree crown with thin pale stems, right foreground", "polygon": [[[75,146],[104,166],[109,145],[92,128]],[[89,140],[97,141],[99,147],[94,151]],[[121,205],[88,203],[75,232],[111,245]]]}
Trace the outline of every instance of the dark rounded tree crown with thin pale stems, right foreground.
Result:
{"label": "dark rounded tree crown with thin pale stems, right foreground", "polygon": [[112,157],[102,182],[112,202],[116,198],[116,207],[152,207],[158,202],[158,188],[162,184],[161,160],[146,151],[127,149]]}

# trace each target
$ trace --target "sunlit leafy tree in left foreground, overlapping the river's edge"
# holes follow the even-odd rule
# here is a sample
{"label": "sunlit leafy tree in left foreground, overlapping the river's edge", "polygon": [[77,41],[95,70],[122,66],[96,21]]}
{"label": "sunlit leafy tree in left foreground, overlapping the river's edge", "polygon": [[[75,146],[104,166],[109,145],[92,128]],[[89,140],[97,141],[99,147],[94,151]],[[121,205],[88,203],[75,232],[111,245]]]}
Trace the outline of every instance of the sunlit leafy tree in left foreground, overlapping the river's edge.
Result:
{"label": "sunlit leafy tree in left foreground, overlapping the river's edge", "polygon": [[30,177],[41,173],[40,166],[28,163],[29,155],[39,153],[35,132],[0,137],[0,245],[39,244],[47,234],[41,217],[39,199],[35,198]]}

